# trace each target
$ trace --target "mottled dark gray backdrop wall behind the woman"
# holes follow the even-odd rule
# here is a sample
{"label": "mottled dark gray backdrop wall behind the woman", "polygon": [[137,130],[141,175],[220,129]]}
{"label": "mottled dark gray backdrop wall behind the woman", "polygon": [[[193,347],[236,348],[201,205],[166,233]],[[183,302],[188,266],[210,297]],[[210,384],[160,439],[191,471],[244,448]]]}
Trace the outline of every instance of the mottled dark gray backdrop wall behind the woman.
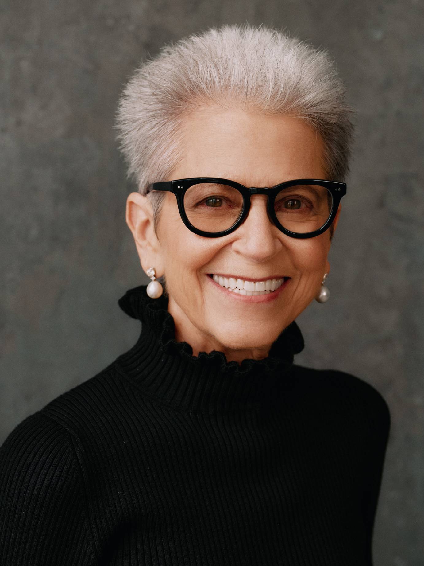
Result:
{"label": "mottled dark gray backdrop wall behind the woman", "polygon": [[139,335],[117,305],[146,282],[112,129],[128,75],[163,42],[210,25],[287,28],[330,51],[359,111],[331,298],[298,317],[297,363],[351,372],[386,398],[375,566],[422,566],[423,3],[1,0],[0,10],[0,441]]}

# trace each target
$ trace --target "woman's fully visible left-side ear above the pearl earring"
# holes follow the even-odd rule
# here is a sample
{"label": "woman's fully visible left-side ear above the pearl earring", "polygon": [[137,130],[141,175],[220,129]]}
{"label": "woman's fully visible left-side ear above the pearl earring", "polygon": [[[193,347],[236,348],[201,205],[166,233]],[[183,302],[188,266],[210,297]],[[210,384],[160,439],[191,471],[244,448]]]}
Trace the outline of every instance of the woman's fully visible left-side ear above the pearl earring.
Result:
{"label": "woman's fully visible left-side ear above the pearl earring", "polygon": [[155,276],[162,277],[161,245],[154,231],[153,210],[146,195],[139,192],[128,195],[125,220],[136,243],[141,268],[146,272],[149,267],[154,267]]}

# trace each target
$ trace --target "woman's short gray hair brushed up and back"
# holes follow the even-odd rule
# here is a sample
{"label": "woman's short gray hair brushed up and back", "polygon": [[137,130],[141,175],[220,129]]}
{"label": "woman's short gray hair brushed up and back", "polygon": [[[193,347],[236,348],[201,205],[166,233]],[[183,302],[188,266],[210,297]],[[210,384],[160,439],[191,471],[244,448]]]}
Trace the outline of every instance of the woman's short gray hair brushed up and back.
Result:
{"label": "woman's short gray hair brushed up and back", "polygon": [[[116,128],[128,177],[141,194],[178,165],[179,125],[205,103],[304,119],[324,141],[327,178],[344,181],[353,134],[344,99],[325,51],[262,25],[223,25],[166,45],[142,63],[123,89]],[[149,194],[155,226],[164,195]]]}

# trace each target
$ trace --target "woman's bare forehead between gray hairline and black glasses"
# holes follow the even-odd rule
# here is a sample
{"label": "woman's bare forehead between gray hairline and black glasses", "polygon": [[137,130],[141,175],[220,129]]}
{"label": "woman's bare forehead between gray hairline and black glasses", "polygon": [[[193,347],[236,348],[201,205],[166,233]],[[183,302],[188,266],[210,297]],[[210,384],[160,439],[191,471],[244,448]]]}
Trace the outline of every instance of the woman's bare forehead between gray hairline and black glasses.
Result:
{"label": "woman's bare forehead between gray hairline and black glasses", "polygon": [[247,186],[324,178],[323,142],[289,115],[203,106],[183,119],[182,160],[172,178],[223,177]]}

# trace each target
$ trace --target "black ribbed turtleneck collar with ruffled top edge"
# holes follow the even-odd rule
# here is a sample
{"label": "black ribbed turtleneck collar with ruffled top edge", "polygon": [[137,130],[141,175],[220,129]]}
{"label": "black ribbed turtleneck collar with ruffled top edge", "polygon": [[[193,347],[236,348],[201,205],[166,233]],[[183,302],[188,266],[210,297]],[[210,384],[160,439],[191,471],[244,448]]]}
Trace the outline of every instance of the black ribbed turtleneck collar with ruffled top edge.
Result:
{"label": "black ribbed turtleneck collar with ruffled top edge", "polygon": [[174,319],[165,295],[152,299],[146,286],[129,289],[118,301],[126,314],[141,320],[136,344],[119,356],[121,372],[142,391],[167,405],[196,412],[254,408],[288,381],[294,354],[304,348],[295,321],[273,342],[267,358],[228,362],[222,351],[200,352],[175,340]]}

